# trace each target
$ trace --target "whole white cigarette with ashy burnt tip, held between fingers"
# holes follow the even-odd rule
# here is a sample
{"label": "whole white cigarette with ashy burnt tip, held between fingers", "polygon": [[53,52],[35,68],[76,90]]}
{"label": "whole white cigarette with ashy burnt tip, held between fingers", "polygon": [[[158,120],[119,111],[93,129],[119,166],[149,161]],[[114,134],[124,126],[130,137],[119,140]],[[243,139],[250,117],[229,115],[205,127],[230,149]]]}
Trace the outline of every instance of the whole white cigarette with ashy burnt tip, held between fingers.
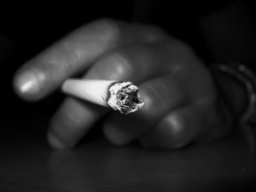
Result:
{"label": "whole white cigarette with ashy burnt tip, held between fingers", "polygon": [[71,96],[113,108],[120,113],[133,113],[145,104],[138,87],[131,82],[102,79],[67,79],[61,90]]}

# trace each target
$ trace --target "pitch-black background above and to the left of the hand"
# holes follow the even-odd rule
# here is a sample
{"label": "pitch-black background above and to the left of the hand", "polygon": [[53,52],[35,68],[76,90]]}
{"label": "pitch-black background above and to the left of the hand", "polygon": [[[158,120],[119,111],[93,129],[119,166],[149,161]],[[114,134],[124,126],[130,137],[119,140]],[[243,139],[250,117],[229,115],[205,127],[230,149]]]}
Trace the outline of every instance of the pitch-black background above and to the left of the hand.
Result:
{"label": "pitch-black background above and to the left of the hand", "polygon": [[[40,102],[23,102],[12,88],[16,70],[50,44],[91,20],[113,18],[145,22],[163,27],[172,36],[182,38],[207,61],[205,45],[196,21],[233,1],[47,1],[2,3],[0,6],[0,83],[1,120],[33,117],[49,118],[63,99],[59,90]],[[252,1],[245,1],[255,18]],[[170,4],[168,4],[170,3]],[[7,40],[6,40],[7,39]]]}

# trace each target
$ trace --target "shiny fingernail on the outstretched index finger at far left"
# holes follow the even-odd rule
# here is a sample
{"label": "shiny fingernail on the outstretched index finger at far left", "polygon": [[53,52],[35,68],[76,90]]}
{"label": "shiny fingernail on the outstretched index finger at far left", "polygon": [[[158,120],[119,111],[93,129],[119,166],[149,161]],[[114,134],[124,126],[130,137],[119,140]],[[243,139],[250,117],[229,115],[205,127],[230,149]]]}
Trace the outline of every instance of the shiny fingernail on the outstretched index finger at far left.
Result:
{"label": "shiny fingernail on the outstretched index finger at far left", "polygon": [[21,95],[37,95],[39,92],[39,82],[35,73],[21,73],[15,81],[15,86]]}

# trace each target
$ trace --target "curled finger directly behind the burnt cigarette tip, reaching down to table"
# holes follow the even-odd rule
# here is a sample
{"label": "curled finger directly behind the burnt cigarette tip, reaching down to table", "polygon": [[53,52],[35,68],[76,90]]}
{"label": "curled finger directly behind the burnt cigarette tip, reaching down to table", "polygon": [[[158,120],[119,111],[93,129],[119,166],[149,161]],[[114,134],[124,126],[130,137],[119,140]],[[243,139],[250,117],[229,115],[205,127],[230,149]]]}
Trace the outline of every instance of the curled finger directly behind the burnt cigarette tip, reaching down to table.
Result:
{"label": "curled finger directly behind the burnt cigarette tip, reaching down to table", "polygon": [[182,81],[173,74],[149,80],[140,86],[145,106],[131,115],[113,114],[103,131],[108,140],[117,145],[131,143],[152,129],[162,116],[188,102]]}

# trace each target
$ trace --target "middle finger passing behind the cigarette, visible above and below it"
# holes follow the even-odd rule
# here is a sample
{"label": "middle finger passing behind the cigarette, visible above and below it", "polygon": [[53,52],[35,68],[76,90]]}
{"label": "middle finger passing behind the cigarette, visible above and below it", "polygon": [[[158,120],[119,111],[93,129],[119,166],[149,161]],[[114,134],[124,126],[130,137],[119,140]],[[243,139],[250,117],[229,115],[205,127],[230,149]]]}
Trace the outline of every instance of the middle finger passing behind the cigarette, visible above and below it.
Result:
{"label": "middle finger passing behind the cigarette, visible above and below it", "polygon": [[[160,47],[160,44],[141,44],[114,49],[96,61],[84,78],[129,80],[139,83],[166,73],[165,62],[160,54],[164,50]],[[155,63],[160,63],[163,67]],[[51,121],[48,133],[50,145],[54,148],[72,147],[105,113],[105,108],[67,98]]]}

